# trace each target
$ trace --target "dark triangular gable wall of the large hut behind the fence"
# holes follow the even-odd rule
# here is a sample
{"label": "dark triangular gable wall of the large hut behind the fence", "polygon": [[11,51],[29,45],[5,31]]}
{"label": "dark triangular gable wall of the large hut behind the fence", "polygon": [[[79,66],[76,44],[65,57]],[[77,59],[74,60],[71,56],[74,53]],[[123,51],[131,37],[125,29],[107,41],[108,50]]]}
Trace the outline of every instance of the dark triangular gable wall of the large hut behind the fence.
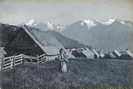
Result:
{"label": "dark triangular gable wall of the large hut behind the fence", "polygon": [[25,54],[37,56],[43,54],[41,48],[30,38],[30,36],[21,28],[16,38],[6,46],[8,56]]}

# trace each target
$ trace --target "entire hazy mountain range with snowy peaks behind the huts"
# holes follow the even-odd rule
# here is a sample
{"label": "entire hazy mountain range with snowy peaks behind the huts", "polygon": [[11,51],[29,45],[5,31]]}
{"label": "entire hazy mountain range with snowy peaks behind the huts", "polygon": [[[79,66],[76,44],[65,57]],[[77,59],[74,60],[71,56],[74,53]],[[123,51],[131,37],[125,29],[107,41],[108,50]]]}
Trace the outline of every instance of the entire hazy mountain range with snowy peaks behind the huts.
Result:
{"label": "entire hazy mountain range with snowy peaks behind the huts", "polygon": [[[71,43],[72,47],[78,47],[76,45],[78,43],[80,46],[83,44],[103,50],[114,50],[117,48],[133,50],[133,22],[131,21],[85,19],[64,26],[56,25],[52,22],[41,23],[30,20],[25,24],[38,28],[41,31],[49,32],[49,34],[52,34],[62,42],[65,47],[71,47]],[[2,29],[5,28],[3,26],[6,27],[6,25],[2,25]]]}

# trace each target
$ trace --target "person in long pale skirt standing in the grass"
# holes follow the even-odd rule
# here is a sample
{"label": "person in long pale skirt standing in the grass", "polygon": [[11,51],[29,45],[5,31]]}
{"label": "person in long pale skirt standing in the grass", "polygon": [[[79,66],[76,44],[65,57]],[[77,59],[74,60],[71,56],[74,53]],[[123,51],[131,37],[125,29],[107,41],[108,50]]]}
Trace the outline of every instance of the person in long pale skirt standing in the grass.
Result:
{"label": "person in long pale skirt standing in the grass", "polygon": [[59,61],[61,62],[61,72],[67,72],[67,63],[68,62],[68,57],[66,54],[65,49],[61,48],[59,50],[60,53],[60,57],[59,57]]}

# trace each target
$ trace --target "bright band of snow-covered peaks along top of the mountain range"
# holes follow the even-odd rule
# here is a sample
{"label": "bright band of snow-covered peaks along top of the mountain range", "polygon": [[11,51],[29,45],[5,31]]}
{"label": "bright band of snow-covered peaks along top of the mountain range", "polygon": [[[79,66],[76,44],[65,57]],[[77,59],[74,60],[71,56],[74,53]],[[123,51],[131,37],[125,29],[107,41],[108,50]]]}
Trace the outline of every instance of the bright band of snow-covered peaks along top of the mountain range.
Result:
{"label": "bright band of snow-covered peaks along top of the mountain range", "polygon": [[[79,26],[87,26],[88,29],[91,27],[95,27],[97,25],[104,25],[104,26],[108,26],[108,25],[113,25],[115,23],[119,23],[119,24],[123,24],[123,25],[128,25],[128,26],[133,26],[133,23],[130,21],[124,21],[124,20],[120,20],[120,19],[108,19],[106,21],[100,21],[100,20],[91,20],[91,19],[84,19],[84,20],[80,20],[77,21],[73,24],[70,25],[74,25],[74,24],[78,24]],[[32,26],[32,27],[37,27],[43,30],[54,30],[54,31],[63,31],[67,26],[61,25],[61,24],[53,24],[52,22],[47,22],[47,23],[37,23],[34,19],[29,20],[28,22],[25,23],[28,26]],[[45,29],[44,29],[45,28]]]}

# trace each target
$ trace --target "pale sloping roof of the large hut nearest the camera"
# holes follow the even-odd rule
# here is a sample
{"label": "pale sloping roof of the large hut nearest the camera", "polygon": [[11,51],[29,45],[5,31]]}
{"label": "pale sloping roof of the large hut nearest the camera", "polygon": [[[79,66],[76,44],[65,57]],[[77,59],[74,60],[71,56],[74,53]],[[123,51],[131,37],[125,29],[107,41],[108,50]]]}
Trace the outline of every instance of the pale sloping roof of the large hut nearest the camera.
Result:
{"label": "pale sloping roof of the large hut nearest the camera", "polygon": [[51,34],[23,25],[22,28],[46,54],[57,54],[63,45]]}

